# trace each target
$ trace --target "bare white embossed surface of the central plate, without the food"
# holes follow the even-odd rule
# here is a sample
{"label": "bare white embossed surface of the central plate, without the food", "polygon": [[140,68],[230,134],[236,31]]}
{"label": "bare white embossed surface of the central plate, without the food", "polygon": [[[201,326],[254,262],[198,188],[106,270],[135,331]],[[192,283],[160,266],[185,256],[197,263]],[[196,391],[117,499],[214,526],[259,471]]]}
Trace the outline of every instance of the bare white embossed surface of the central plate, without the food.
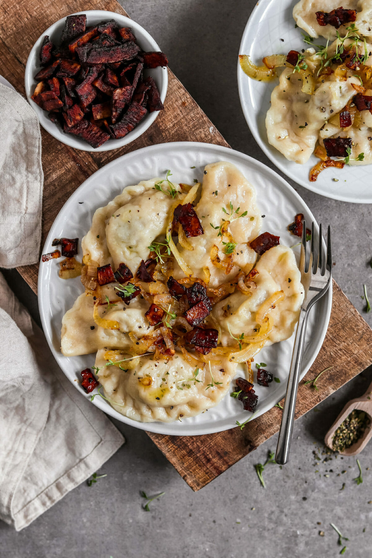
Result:
{"label": "bare white embossed surface of the central plate, without the food", "polygon": [[[54,238],[81,238],[91,225],[94,211],[106,205],[117,196],[125,186],[138,184],[141,180],[165,176],[167,169],[172,172],[173,182],[192,184],[194,179],[202,180],[207,163],[228,161],[243,172],[257,191],[258,207],[263,219],[262,232],[265,230],[281,237],[281,243],[292,246],[296,237],[287,230],[296,213],[303,213],[306,220],[314,220],[310,210],[296,191],[275,172],[243,153],[227,147],[209,143],[177,142],[161,143],[127,153],[96,171],[66,201],[57,215],[46,239],[43,253],[51,252]],[[195,168],[193,168],[195,167]],[[80,243],[79,243],[80,244]],[[294,248],[299,254],[299,247]],[[79,258],[81,247],[79,246]],[[46,338],[67,378],[73,382],[82,397],[90,398],[80,386],[80,372],[94,364],[95,354],[79,357],[64,357],[60,352],[61,320],[76,298],[84,291],[80,278],[63,280],[58,276],[58,261],[52,259],[40,264],[38,276],[38,300],[42,325]],[[311,311],[307,328],[306,348],[303,356],[301,378],[316,358],[325,338],[332,304],[332,289],[323,296]],[[263,349],[256,362],[265,362],[267,368],[281,382],[272,382],[269,387],[260,387],[255,381],[259,396],[257,415],[268,411],[284,396],[289,365],[291,363],[293,337]],[[240,374],[241,375],[241,374]],[[230,391],[233,391],[231,384]],[[115,419],[131,426],[160,434],[197,435],[228,430],[235,426],[236,420],[245,421],[252,413],[244,411],[240,401],[226,395],[216,407],[196,417],[171,423],[137,422],[120,415],[107,401],[97,396],[96,405]]]}

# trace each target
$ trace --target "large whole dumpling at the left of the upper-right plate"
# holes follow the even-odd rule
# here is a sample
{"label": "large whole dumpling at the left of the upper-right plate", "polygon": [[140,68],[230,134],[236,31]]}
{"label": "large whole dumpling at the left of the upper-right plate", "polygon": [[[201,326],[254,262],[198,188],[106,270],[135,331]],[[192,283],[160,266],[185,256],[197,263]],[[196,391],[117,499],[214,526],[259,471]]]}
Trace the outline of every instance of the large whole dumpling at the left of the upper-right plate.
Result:
{"label": "large whole dumpling at the left of the upper-right plate", "polygon": [[[313,61],[309,49],[306,61]],[[289,161],[306,163],[314,151],[320,129],[355,95],[352,84],[359,78],[350,76],[346,81],[334,74],[325,84],[317,83],[312,95],[302,93],[302,79],[290,68],[285,68],[271,95],[266,116],[266,129],[270,145],[277,148]]]}

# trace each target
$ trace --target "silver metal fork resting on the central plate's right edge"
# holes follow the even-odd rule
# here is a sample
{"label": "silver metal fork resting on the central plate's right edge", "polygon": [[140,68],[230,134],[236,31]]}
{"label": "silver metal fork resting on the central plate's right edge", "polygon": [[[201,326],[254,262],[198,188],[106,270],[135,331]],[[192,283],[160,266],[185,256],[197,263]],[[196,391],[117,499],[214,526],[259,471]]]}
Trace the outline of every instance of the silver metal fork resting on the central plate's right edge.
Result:
{"label": "silver metal fork resting on the central plate's right edge", "polygon": [[302,353],[305,343],[305,332],[307,318],[311,307],[326,294],[332,279],[332,254],[331,254],[331,228],[327,230],[327,253],[323,249],[322,225],[319,225],[318,248],[315,249],[314,223],[311,225],[311,248],[310,257],[306,246],[306,222],[302,221],[301,256],[299,259],[299,271],[301,271],[301,282],[305,288],[305,299],[302,302],[299,314],[296,338],[294,339],[291,368],[289,369],[286,399],[284,400],[283,416],[277,453],[275,460],[284,465],[289,459],[291,438],[293,429],[294,411],[296,409],[296,397],[301,372]]}

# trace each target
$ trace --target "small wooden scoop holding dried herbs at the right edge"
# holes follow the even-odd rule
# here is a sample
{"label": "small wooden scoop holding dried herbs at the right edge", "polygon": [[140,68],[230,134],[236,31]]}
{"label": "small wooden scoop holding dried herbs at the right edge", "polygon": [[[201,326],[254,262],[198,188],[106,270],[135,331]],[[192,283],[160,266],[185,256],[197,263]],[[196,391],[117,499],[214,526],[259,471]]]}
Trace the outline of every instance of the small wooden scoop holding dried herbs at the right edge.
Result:
{"label": "small wooden scoop holding dried herbs at the right edge", "polygon": [[349,416],[352,411],[354,411],[354,409],[358,411],[365,411],[369,417],[370,424],[366,427],[365,431],[363,432],[363,436],[361,436],[359,440],[357,440],[349,448],[346,448],[344,451],[339,452],[341,455],[359,454],[372,436],[372,383],[362,397],[352,399],[351,401],[349,401],[349,403],[346,403],[340,415],[337,417],[334,424],[332,424],[331,428],[328,430],[324,441],[328,448],[330,448],[331,450],[333,450],[332,441],[335,435],[335,431],[342,424],[342,422],[344,422],[346,417]]}

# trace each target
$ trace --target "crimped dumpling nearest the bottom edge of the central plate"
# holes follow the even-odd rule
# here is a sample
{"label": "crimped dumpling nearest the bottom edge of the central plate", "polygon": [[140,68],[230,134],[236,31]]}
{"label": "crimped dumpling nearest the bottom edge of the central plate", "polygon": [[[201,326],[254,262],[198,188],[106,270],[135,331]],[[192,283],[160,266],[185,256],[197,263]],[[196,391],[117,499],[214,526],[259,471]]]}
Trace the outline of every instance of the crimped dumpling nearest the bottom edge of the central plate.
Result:
{"label": "crimped dumpling nearest the bottom edge of the central plate", "polygon": [[[98,372],[103,395],[116,411],[141,422],[172,422],[199,415],[221,401],[236,373],[236,365],[221,358],[218,364],[211,363],[211,369],[201,364],[195,375],[196,368],[179,352],[168,362],[139,357],[136,368],[125,372],[125,362],[121,364],[124,370],[117,365],[105,366],[106,353],[100,349],[95,360],[96,367],[103,367]],[[123,358],[131,356],[123,353]],[[212,376],[215,385],[208,387]]]}

